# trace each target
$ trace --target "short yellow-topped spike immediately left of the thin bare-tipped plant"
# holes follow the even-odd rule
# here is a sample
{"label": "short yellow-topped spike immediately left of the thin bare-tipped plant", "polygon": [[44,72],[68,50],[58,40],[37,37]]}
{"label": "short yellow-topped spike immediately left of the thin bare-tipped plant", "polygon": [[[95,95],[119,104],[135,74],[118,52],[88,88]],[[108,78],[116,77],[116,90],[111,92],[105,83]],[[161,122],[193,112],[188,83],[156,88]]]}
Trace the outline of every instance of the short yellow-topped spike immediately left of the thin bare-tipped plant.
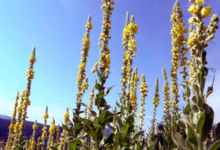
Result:
{"label": "short yellow-topped spike immediately left of the thin bare-tipped plant", "polygon": [[141,76],[141,86],[140,86],[140,93],[141,93],[141,108],[140,108],[140,113],[141,115],[138,115],[138,118],[141,118],[141,123],[140,123],[140,131],[142,131],[142,127],[143,127],[143,122],[144,122],[144,105],[145,105],[145,97],[148,94],[148,85],[146,84],[146,80],[145,80],[145,75],[142,74]]}

